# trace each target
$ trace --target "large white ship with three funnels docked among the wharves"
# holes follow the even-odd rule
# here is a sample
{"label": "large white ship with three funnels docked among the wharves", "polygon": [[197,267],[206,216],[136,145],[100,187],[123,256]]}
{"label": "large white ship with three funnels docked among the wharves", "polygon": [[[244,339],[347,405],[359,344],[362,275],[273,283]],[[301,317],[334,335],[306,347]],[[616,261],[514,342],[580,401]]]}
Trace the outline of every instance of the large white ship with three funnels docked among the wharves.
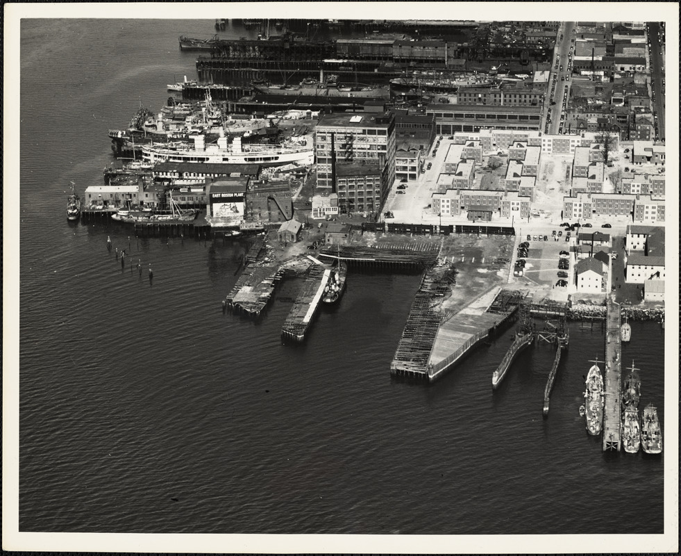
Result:
{"label": "large white ship with three funnels docked among the wharves", "polygon": [[257,164],[280,166],[285,164],[310,165],[314,162],[312,145],[294,142],[283,145],[242,144],[235,137],[231,144],[221,133],[217,143],[206,145],[203,135],[191,137],[194,144],[186,142],[147,145],[142,149],[142,158],[149,163],[197,162],[211,164]]}

